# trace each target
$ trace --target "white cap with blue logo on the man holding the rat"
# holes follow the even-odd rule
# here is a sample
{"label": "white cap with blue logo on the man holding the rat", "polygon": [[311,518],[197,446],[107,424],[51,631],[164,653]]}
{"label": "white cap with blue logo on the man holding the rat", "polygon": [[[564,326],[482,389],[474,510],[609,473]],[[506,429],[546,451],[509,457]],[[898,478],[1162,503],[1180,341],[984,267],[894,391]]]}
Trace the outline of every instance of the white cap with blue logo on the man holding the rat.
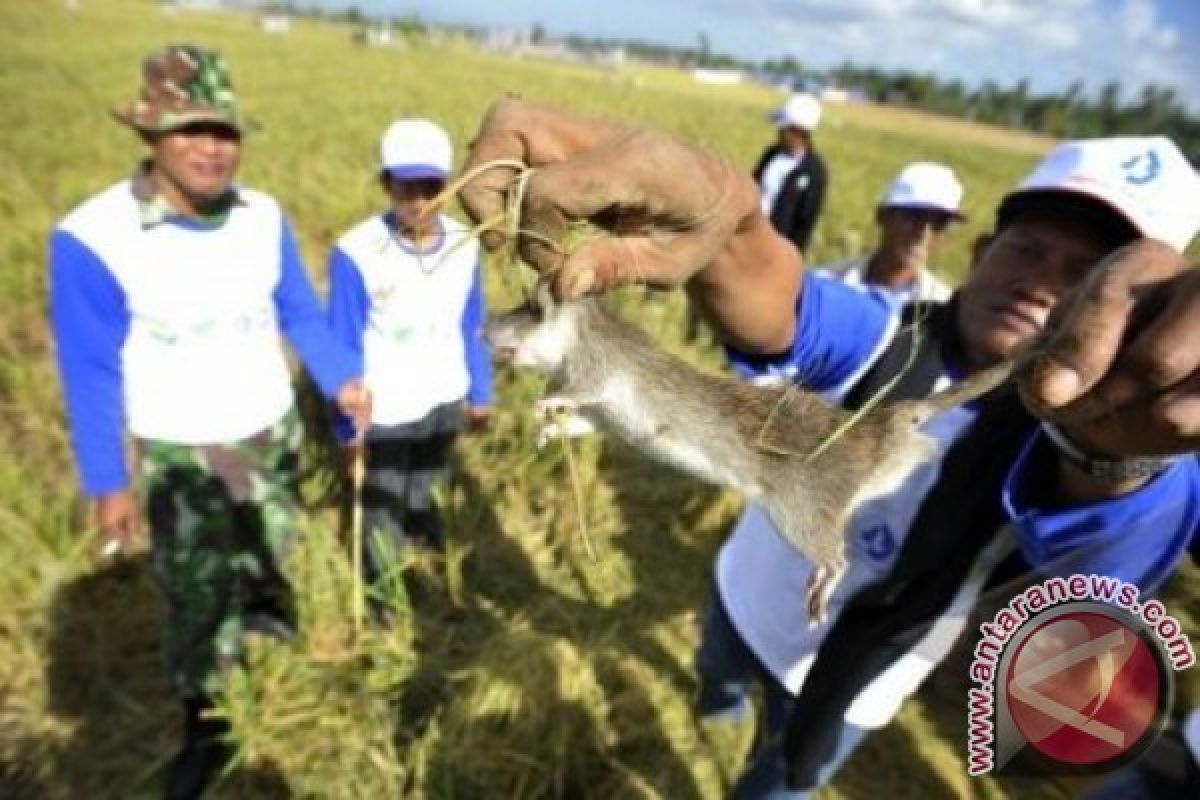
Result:
{"label": "white cap with blue logo on the man holding the rat", "polygon": [[1180,252],[1200,229],[1200,176],[1166,137],[1064,142],[1001,205],[1033,192],[1100,200],[1142,235]]}

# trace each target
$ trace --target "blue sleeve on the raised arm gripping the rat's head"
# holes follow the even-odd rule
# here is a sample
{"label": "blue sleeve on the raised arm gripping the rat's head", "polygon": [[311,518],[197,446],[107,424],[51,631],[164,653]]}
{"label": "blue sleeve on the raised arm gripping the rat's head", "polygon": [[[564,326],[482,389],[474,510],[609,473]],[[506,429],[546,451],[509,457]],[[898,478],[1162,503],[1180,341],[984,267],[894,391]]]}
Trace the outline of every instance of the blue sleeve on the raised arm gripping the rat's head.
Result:
{"label": "blue sleeve on the raised arm gripping the rat's head", "polygon": [[726,351],[744,378],[782,375],[814,391],[828,391],[871,357],[890,333],[894,314],[894,305],[881,291],[863,291],[805,271],[791,349],[774,356]]}

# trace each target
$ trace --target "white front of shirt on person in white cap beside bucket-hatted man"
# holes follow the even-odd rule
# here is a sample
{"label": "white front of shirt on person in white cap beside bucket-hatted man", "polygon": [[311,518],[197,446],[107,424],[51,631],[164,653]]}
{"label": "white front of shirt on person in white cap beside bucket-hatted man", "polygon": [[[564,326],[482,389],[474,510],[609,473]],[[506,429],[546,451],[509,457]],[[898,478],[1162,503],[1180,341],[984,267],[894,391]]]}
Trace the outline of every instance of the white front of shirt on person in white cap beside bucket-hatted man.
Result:
{"label": "white front of shirt on person in white cap beside bucket-hatted man", "polygon": [[439,219],[444,236],[430,253],[413,252],[379,215],[337,242],[367,293],[362,355],[377,425],[412,422],[467,395],[462,314],[479,245],[461,223]]}

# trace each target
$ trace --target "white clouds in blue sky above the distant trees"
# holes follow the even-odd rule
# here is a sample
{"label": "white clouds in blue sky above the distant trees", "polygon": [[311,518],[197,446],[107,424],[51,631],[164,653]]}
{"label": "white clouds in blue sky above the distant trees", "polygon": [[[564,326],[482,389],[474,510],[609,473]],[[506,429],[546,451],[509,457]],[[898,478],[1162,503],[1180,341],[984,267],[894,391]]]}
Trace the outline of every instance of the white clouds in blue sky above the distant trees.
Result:
{"label": "white clouds in blue sky above the distant trees", "polygon": [[[846,60],[934,71],[970,83],[1030,78],[1038,91],[1075,79],[1093,91],[1116,80],[1127,95],[1174,86],[1200,110],[1200,54],[1160,18],[1154,0],[700,0],[733,37],[755,20],[758,56],[791,53],[829,66]],[[763,36],[763,34],[767,36]],[[744,34],[750,44],[750,34]],[[766,44],[778,42],[778,47]],[[748,47],[740,47],[743,55]]]}

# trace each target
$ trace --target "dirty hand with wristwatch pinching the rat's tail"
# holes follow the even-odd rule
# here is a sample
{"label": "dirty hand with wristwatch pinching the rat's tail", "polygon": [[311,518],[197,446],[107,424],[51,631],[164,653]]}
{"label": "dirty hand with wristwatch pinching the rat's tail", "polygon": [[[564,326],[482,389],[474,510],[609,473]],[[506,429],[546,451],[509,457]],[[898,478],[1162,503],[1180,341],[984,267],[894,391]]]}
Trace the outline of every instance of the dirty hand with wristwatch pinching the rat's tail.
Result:
{"label": "dirty hand with wristwatch pinching the rat's tail", "polygon": [[1200,270],[1156,240],[1121,248],[1051,314],[1020,387],[1090,452],[1200,449]]}

